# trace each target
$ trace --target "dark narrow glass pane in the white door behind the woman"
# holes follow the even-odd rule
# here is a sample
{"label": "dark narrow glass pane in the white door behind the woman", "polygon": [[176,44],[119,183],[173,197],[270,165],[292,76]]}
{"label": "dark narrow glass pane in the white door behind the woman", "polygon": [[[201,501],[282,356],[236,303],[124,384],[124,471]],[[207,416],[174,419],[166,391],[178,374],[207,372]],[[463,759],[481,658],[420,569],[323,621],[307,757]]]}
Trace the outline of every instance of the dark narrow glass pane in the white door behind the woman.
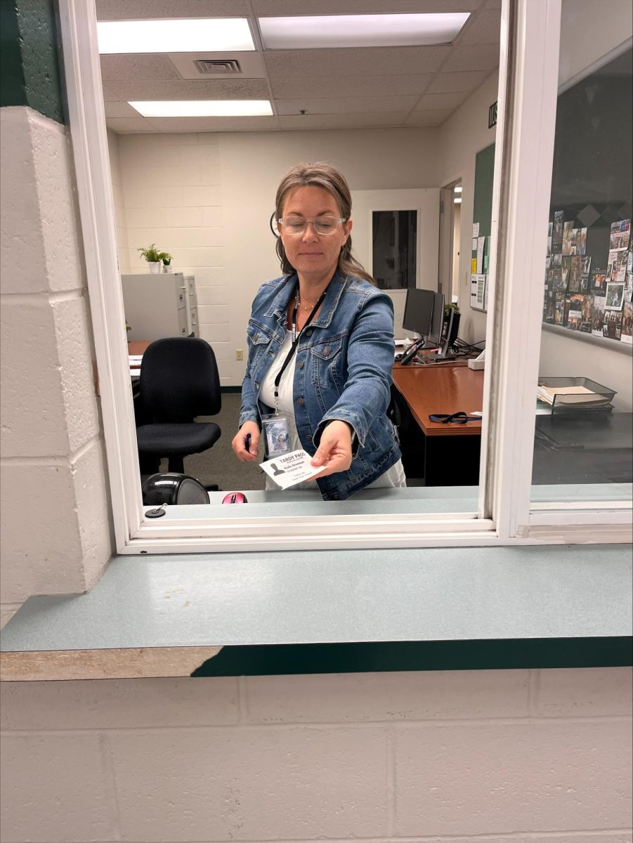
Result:
{"label": "dark narrow glass pane in the white door behind the woman", "polygon": [[417,211],[372,213],[373,277],[381,290],[416,286]]}

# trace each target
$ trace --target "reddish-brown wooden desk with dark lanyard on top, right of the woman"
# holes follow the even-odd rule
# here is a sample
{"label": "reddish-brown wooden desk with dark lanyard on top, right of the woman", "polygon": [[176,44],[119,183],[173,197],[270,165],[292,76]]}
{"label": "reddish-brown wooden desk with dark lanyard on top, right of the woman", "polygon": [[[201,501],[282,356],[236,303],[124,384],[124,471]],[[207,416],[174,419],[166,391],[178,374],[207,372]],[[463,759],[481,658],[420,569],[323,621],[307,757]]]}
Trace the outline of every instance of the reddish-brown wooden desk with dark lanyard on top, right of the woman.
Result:
{"label": "reddish-brown wooden desk with dark lanyard on top, right of the woman", "polygon": [[481,422],[442,424],[432,413],[483,410],[484,373],[460,363],[402,366],[394,363],[394,386],[415,425],[403,421],[400,444],[405,473],[425,486],[479,483]]}

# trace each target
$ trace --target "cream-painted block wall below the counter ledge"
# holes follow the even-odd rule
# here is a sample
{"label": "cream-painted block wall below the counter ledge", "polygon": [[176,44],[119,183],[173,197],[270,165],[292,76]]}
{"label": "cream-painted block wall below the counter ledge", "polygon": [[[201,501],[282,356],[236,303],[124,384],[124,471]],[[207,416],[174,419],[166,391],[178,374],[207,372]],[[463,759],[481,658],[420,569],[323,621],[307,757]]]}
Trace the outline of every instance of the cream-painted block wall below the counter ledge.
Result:
{"label": "cream-painted block wall below the counter ledge", "polygon": [[631,840],[627,668],[2,694],[4,843]]}

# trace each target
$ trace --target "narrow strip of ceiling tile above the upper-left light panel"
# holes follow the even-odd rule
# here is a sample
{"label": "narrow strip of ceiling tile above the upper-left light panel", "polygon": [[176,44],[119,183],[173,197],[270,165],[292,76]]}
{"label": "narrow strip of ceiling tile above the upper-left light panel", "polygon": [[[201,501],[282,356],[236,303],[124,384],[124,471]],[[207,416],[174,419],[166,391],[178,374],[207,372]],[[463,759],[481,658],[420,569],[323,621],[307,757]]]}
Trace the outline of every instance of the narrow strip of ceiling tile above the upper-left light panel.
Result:
{"label": "narrow strip of ceiling tile above the upper-left light panel", "polygon": [[97,20],[143,18],[234,18],[249,14],[248,0],[96,0]]}

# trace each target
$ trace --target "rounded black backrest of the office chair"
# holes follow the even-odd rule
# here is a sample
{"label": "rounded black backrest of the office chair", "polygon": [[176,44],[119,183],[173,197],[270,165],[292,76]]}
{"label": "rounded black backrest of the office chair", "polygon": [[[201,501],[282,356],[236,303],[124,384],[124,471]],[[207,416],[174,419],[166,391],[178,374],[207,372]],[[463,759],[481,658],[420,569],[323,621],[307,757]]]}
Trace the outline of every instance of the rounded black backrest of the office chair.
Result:
{"label": "rounded black backrest of the office chair", "polygon": [[142,356],[144,409],[154,421],[191,421],[222,408],[216,356],[207,341],[173,336],[151,343]]}

